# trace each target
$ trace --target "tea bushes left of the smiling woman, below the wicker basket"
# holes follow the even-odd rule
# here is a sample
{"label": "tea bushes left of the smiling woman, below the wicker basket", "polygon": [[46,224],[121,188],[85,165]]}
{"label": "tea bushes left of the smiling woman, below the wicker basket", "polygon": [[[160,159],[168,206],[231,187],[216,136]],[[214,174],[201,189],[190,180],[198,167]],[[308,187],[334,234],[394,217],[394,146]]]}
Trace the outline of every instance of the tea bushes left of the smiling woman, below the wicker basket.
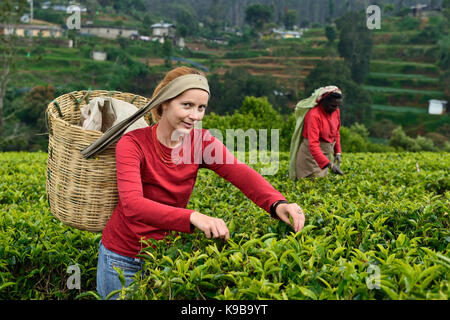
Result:
{"label": "tea bushes left of the smiling woman, below the wicker basket", "polygon": [[[47,154],[0,153],[0,299],[69,299],[70,265],[95,290],[100,235],[64,226],[45,190]],[[78,292],[76,292],[78,291]]]}

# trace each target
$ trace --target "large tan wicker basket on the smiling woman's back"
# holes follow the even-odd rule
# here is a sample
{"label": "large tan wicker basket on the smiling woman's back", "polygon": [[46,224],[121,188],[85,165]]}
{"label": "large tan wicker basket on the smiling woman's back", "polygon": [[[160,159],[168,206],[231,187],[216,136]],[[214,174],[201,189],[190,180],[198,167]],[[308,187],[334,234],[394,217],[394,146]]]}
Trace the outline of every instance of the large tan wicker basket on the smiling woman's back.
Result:
{"label": "large tan wicker basket on the smiling woman's back", "polygon": [[[47,197],[51,213],[62,223],[81,230],[100,232],[118,201],[115,146],[86,159],[81,150],[102,132],[78,126],[80,108],[89,100],[110,96],[138,108],[149,99],[118,91],[75,91],[64,94],[47,107],[49,145]],[[146,116],[149,123],[149,117]]]}

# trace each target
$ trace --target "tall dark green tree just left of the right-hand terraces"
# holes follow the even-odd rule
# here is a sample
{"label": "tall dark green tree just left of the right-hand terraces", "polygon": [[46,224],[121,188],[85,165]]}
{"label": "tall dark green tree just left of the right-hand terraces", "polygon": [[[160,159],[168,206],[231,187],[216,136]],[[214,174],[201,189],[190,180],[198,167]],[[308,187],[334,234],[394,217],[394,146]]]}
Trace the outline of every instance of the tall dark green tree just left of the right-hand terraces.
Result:
{"label": "tall dark green tree just left of the right-hand terraces", "polygon": [[349,12],[336,20],[339,30],[338,50],[350,68],[352,79],[363,83],[369,74],[373,34],[367,28],[363,12]]}

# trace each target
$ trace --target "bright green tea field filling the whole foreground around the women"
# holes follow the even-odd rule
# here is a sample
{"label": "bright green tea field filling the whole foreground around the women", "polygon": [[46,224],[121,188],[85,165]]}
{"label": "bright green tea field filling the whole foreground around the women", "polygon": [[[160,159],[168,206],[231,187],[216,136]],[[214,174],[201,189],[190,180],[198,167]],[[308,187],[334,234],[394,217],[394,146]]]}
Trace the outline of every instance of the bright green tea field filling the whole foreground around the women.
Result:
{"label": "bright green tea field filling the whole foreground around the women", "polygon": [[[265,176],[305,211],[297,234],[202,170],[188,208],[223,218],[224,243],[171,235],[143,252],[128,299],[444,299],[450,297],[450,154],[344,154],[345,176],[291,181],[288,153]],[[0,154],[0,299],[95,299],[100,234],[61,224],[46,153]],[[259,169],[260,165],[252,165]],[[78,265],[80,289],[69,289]]]}

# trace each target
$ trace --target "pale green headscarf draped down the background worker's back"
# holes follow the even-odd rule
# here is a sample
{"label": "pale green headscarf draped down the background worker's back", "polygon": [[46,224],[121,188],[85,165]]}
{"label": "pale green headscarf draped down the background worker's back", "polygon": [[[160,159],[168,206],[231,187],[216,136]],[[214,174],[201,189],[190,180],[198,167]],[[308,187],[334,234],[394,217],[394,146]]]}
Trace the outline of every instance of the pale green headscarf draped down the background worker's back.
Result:
{"label": "pale green headscarf draped down the background worker's back", "polygon": [[303,99],[297,103],[295,106],[295,129],[291,138],[291,149],[289,154],[289,178],[292,180],[297,179],[297,174],[295,172],[295,162],[297,158],[297,151],[300,146],[300,143],[303,140],[302,131],[303,131],[303,123],[305,120],[306,113],[312,108],[314,108],[320,100],[325,98],[325,96],[329,95],[332,92],[337,92],[342,94],[341,90],[336,86],[326,86],[316,89],[313,94],[306,99]]}

